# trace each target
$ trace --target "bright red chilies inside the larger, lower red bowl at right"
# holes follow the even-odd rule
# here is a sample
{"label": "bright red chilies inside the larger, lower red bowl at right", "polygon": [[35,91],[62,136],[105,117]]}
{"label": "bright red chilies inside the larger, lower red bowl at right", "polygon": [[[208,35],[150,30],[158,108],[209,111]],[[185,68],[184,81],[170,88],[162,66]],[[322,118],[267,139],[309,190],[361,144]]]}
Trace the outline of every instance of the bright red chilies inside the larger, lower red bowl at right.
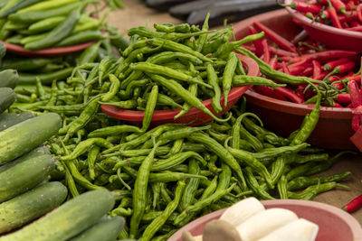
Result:
{"label": "bright red chilies inside the larger, lower red bowl at right", "polygon": [[[348,81],[354,80],[357,84],[361,82],[357,51],[321,49],[317,42],[303,34],[299,34],[290,42],[262,23],[253,23],[253,26],[249,26],[251,34],[257,33],[258,30],[265,32],[266,38],[252,42],[253,45],[247,48],[269,63],[272,69],[293,76],[323,80],[332,86],[324,95],[323,106],[352,107]],[[306,40],[301,42],[301,37]],[[290,85],[275,89],[259,86],[254,89],[269,97],[298,104],[312,104],[315,92],[311,88],[305,89],[307,86],[307,84]]]}

